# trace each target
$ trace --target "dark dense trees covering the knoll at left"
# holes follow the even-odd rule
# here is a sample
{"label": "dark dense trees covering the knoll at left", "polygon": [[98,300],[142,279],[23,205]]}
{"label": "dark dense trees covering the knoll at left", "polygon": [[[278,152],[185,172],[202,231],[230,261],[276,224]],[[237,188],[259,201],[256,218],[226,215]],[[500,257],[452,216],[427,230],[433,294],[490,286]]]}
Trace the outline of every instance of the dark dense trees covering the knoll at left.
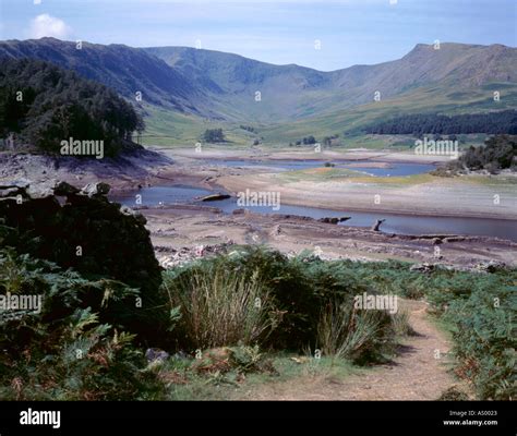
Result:
{"label": "dark dense trees covering the knoll at left", "polygon": [[116,156],[144,122],[112,89],[49,62],[9,59],[0,63],[0,137],[15,146],[59,153],[60,143],[104,141]]}

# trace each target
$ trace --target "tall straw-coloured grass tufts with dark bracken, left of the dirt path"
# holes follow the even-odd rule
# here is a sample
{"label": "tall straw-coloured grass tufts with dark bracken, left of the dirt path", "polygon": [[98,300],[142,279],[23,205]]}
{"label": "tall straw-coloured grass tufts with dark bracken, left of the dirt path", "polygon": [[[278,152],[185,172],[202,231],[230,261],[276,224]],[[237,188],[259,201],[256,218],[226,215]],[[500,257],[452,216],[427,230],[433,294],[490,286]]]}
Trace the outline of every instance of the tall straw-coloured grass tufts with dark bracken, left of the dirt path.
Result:
{"label": "tall straw-coloured grass tufts with dark bracken, left of the dirt path", "polygon": [[[175,327],[178,344],[190,350],[260,341],[276,350],[313,349],[321,340],[322,307],[337,307],[366,291],[376,293],[350,265],[309,253],[289,258],[265,247],[239,247],[172,268],[164,283],[171,307],[182,314]],[[257,298],[261,311],[253,304]],[[342,332],[349,335],[347,356],[376,360],[385,349],[381,343],[392,341],[389,316],[346,314],[351,317],[351,324],[341,326],[349,327]]]}

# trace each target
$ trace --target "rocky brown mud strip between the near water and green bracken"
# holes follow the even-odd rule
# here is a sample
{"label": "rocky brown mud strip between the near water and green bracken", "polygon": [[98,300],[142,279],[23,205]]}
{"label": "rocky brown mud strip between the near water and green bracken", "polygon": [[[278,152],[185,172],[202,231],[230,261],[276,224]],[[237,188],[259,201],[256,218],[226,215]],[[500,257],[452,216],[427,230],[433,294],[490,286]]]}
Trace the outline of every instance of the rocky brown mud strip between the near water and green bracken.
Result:
{"label": "rocky brown mud strip between the near water and green bracken", "polygon": [[193,253],[205,247],[265,244],[288,255],[309,251],[324,259],[399,259],[470,269],[489,262],[517,265],[517,243],[489,237],[402,235],[304,217],[250,211],[228,215],[202,206],[149,207],[140,211],[147,219],[153,244],[164,263],[179,252],[190,252],[195,258],[199,256]]}

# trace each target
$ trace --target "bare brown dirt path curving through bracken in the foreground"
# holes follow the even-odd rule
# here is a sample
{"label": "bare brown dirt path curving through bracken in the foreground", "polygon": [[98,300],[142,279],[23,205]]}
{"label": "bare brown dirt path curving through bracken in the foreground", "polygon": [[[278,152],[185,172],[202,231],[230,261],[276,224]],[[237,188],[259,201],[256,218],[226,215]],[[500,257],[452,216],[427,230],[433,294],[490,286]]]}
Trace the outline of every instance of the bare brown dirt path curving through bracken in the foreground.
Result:
{"label": "bare brown dirt path curving through bracken in the foreground", "polygon": [[[245,393],[255,400],[435,400],[455,384],[447,372],[450,343],[430,322],[426,304],[405,301],[418,336],[408,337],[393,363],[346,378],[297,377],[265,384]],[[440,350],[440,359],[436,359]]]}

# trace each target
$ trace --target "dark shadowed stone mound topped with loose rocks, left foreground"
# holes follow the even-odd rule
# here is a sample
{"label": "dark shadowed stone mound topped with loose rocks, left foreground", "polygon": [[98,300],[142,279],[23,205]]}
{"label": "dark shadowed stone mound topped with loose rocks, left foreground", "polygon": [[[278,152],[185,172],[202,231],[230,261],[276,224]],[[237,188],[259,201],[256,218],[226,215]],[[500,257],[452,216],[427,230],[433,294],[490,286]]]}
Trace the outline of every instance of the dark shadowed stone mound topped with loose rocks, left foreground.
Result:
{"label": "dark shadowed stone mound topped with loose rocks, left foreground", "polygon": [[[79,190],[65,182],[38,190],[25,182],[0,186],[0,245],[63,268],[123,281],[151,305],[161,283],[145,218],[110,203],[106,183]],[[149,296],[147,300],[146,296]],[[146,301],[147,300],[147,301]]]}

